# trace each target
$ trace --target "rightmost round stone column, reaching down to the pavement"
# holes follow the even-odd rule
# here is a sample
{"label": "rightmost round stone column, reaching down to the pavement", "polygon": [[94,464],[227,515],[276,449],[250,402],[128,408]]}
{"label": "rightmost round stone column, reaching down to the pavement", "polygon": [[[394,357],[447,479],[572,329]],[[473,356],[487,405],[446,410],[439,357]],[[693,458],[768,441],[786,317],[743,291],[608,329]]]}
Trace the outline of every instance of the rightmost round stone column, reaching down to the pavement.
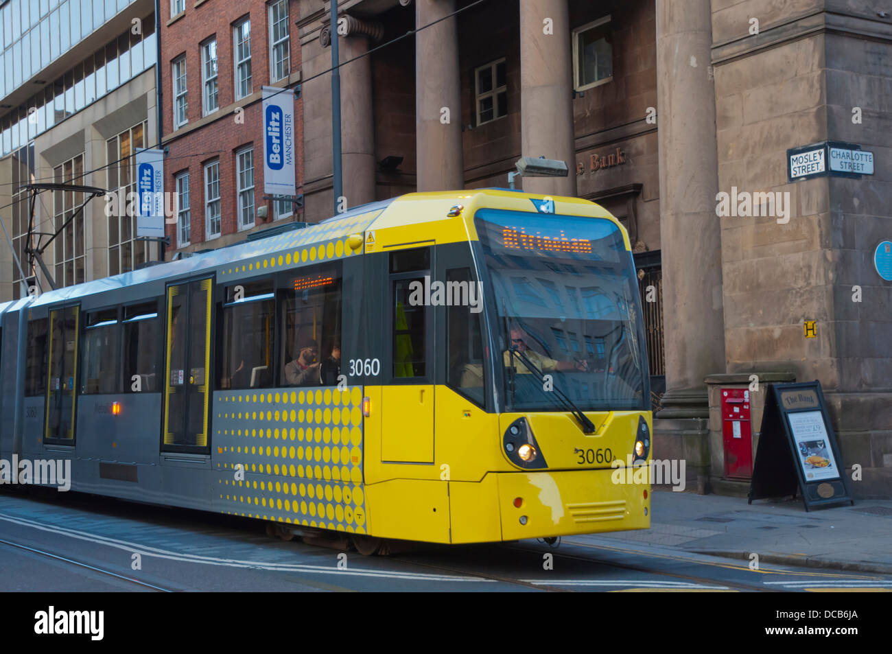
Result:
{"label": "rightmost round stone column, reaching down to the pavement", "polygon": [[683,451],[701,492],[709,468],[705,378],[725,371],[711,15],[710,0],[657,0],[666,393],[654,456]]}

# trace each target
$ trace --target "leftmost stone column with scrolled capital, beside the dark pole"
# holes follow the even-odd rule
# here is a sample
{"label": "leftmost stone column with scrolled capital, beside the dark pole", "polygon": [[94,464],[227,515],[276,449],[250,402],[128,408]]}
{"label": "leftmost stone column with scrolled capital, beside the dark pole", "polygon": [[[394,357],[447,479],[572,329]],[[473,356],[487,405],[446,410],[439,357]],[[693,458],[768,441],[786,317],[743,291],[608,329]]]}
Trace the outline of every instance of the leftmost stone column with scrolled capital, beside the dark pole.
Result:
{"label": "leftmost stone column with scrolled capital, beside the dark pole", "polygon": [[[347,62],[368,51],[368,36],[341,38],[339,59]],[[341,153],[343,193],[348,206],[375,201],[375,121],[371,57],[341,67]]]}

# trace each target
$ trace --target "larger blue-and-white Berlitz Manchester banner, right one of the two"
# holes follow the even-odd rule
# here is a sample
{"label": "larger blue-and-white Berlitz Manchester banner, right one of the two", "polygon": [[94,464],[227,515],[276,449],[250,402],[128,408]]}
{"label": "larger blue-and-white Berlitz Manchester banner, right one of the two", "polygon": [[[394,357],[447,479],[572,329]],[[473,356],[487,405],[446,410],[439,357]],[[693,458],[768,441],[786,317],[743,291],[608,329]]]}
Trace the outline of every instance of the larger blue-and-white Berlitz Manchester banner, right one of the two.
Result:
{"label": "larger blue-and-white Berlitz Manchester banner, right one of the two", "polygon": [[263,191],[294,195],[294,92],[263,87]]}

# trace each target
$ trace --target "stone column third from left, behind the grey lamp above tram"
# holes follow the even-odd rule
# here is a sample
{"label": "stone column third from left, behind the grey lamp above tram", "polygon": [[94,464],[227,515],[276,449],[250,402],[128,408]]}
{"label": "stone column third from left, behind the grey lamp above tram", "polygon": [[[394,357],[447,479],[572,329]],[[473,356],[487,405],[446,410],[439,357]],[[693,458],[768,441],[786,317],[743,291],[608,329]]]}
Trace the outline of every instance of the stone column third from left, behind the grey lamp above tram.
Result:
{"label": "stone column third from left, behind the grey lamp above tram", "polygon": [[571,51],[567,0],[520,0],[522,154],[566,161],[568,170],[566,178],[521,178],[530,193],[576,195]]}

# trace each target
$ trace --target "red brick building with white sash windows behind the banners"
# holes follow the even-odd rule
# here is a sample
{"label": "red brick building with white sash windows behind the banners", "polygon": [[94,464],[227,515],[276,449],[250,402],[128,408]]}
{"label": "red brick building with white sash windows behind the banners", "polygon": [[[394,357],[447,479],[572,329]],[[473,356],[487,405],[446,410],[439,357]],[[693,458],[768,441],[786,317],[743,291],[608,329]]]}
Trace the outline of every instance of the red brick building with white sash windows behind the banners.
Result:
{"label": "red brick building with white sash windows behind the banners", "polygon": [[[164,0],[161,7],[164,187],[177,199],[166,228],[169,255],[297,219],[292,203],[263,199],[260,139],[261,87],[293,88],[301,79],[296,3]],[[294,112],[300,116],[300,99]],[[295,137],[300,184],[300,121]]]}

